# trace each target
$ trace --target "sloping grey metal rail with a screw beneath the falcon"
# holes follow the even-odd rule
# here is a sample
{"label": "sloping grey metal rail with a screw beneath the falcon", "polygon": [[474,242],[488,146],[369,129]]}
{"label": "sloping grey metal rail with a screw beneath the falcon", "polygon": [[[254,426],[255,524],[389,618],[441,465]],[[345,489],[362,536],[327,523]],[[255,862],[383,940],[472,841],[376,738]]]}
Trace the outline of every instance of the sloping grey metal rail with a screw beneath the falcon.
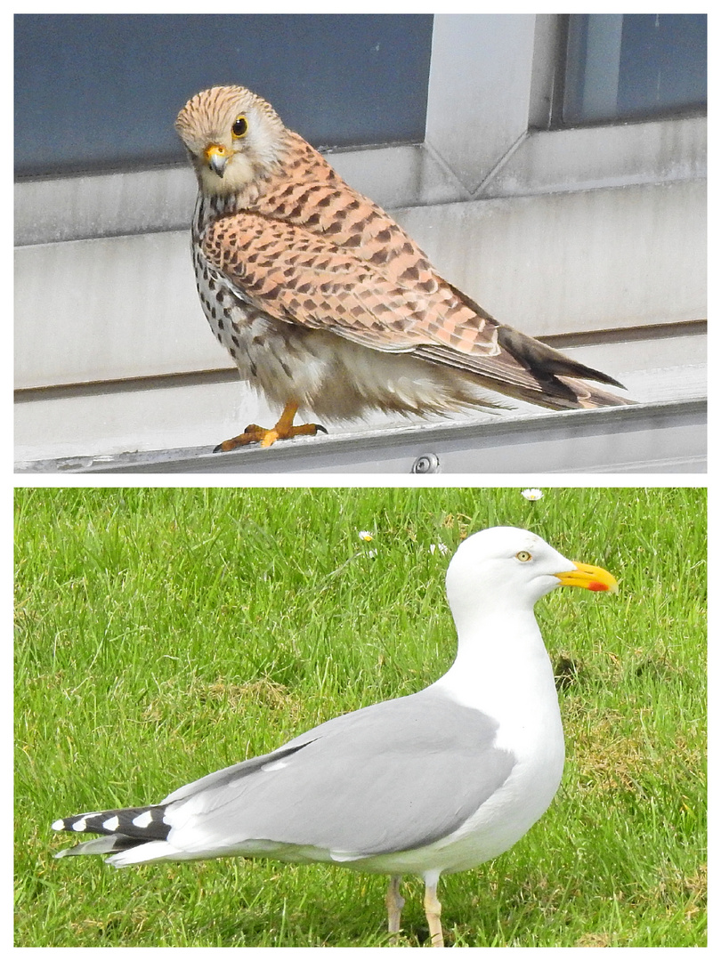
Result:
{"label": "sloping grey metal rail with a screw beneath the falcon", "polygon": [[267,450],[208,448],[72,457],[17,473],[74,474],[632,474],[704,473],[703,399],[543,413],[493,423],[298,438]]}

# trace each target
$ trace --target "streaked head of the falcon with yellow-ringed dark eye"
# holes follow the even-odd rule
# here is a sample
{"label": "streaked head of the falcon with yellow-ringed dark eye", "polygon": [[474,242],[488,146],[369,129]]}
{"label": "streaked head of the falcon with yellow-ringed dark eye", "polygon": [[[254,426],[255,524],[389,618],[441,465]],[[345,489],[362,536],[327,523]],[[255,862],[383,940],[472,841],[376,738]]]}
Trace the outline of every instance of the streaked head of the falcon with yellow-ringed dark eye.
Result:
{"label": "streaked head of the falcon with yellow-ringed dark eye", "polygon": [[278,169],[286,128],[270,104],[244,86],[213,86],[188,100],[175,129],[204,193],[237,193]]}

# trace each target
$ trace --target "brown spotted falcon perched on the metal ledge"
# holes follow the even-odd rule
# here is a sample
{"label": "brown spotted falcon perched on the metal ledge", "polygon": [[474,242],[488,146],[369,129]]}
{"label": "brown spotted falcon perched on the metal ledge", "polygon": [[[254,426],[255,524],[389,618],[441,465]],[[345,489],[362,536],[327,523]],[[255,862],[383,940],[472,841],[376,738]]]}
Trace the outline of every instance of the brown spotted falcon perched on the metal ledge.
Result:
{"label": "brown spotted falcon perched on the metal ledge", "polygon": [[261,97],[213,86],[176,120],[198,178],[192,257],[211,329],[279,407],[216,450],[324,431],[299,408],[360,417],[498,407],[485,388],[555,409],[630,403],[623,387],[500,324],[348,186]]}

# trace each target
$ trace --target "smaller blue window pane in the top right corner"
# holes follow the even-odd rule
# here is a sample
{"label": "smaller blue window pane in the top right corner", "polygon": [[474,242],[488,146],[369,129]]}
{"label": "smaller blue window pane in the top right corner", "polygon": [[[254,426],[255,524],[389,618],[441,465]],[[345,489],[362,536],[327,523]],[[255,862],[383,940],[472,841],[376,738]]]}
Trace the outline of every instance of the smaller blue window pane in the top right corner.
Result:
{"label": "smaller blue window pane in the top right corner", "polygon": [[706,14],[569,17],[563,122],[664,116],[706,102]]}

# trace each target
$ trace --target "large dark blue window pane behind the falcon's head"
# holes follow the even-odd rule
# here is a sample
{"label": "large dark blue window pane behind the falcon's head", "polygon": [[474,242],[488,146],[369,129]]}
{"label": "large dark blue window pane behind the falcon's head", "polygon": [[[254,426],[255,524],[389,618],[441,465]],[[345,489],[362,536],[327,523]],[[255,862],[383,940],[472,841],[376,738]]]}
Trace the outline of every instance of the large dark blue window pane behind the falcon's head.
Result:
{"label": "large dark blue window pane behind the falcon's head", "polygon": [[185,160],[173,121],[207,86],[248,86],[316,146],[423,140],[433,16],[15,16],[15,169]]}

